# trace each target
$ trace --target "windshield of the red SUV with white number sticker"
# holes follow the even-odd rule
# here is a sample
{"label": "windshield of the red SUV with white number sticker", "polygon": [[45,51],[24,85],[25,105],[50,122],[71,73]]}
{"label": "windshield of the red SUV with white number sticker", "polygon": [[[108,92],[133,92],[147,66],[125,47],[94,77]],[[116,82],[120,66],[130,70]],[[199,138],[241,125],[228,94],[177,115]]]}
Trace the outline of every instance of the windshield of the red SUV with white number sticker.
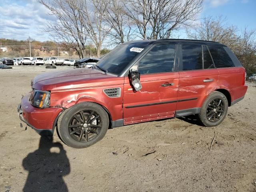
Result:
{"label": "windshield of the red SUV with white number sticker", "polygon": [[145,45],[125,44],[114,48],[100,61],[97,66],[112,74],[120,74],[122,70],[134,59],[136,55],[143,52]]}

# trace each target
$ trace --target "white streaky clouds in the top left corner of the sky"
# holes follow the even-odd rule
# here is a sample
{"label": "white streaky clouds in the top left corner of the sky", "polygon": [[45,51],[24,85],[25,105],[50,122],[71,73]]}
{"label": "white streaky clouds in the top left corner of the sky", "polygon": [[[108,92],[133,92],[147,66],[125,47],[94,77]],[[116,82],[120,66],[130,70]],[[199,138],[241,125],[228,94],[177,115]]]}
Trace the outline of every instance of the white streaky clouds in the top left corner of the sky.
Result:
{"label": "white streaky clouds in the top left corner of the sky", "polygon": [[42,31],[48,22],[56,20],[37,0],[6,0],[0,4],[0,13],[0,37],[8,39],[26,40],[30,36],[49,40]]}

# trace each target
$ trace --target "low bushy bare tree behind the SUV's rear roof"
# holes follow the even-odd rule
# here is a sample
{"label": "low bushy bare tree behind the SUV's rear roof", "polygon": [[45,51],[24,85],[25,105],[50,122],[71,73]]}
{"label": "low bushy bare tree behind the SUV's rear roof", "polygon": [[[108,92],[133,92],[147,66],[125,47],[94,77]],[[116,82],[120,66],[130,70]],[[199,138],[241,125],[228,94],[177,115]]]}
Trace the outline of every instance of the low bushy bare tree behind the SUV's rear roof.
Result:
{"label": "low bushy bare tree behind the SUV's rear roof", "polygon": [[216,18],[209,16],[203,18],[197,28],[192,30],[187,28],[186,33],[188,38],[216,41],[235,49],[239,38],[237,31],[237,27],[229,25],[226,22],[226,18],[223,16],[218,16]]}

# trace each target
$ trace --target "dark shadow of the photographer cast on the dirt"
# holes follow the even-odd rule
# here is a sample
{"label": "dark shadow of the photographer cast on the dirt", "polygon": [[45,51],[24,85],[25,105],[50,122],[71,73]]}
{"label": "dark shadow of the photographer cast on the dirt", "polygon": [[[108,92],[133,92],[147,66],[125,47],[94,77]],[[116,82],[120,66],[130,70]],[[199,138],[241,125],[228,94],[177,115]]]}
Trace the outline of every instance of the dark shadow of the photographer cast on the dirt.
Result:
{"label": "dark shadow of the photographer cast on the dirt", "polygon": [[70,173],[70,163],[61,143],[42,136],[39,148],[23,159],[22,166],[28,171],[24,192],[68,192],[63,176]]}

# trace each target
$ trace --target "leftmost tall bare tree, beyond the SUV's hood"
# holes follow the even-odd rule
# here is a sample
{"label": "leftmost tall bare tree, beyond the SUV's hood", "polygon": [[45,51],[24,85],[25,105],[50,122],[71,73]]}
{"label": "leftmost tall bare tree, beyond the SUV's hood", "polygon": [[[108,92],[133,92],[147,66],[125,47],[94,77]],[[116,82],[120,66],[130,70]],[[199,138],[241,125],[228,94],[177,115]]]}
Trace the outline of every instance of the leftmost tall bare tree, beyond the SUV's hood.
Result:
{"label": "leftmost tall bare tree, beyond the SUV's hood", "polygon": [[84,0],[38,0],[56,17],[56,22],[49,22],[45,32],[49,32],[55,42],[65,43],[67,48],[76,50],[80,58],[84,57],[87,30],[81,10]]}

